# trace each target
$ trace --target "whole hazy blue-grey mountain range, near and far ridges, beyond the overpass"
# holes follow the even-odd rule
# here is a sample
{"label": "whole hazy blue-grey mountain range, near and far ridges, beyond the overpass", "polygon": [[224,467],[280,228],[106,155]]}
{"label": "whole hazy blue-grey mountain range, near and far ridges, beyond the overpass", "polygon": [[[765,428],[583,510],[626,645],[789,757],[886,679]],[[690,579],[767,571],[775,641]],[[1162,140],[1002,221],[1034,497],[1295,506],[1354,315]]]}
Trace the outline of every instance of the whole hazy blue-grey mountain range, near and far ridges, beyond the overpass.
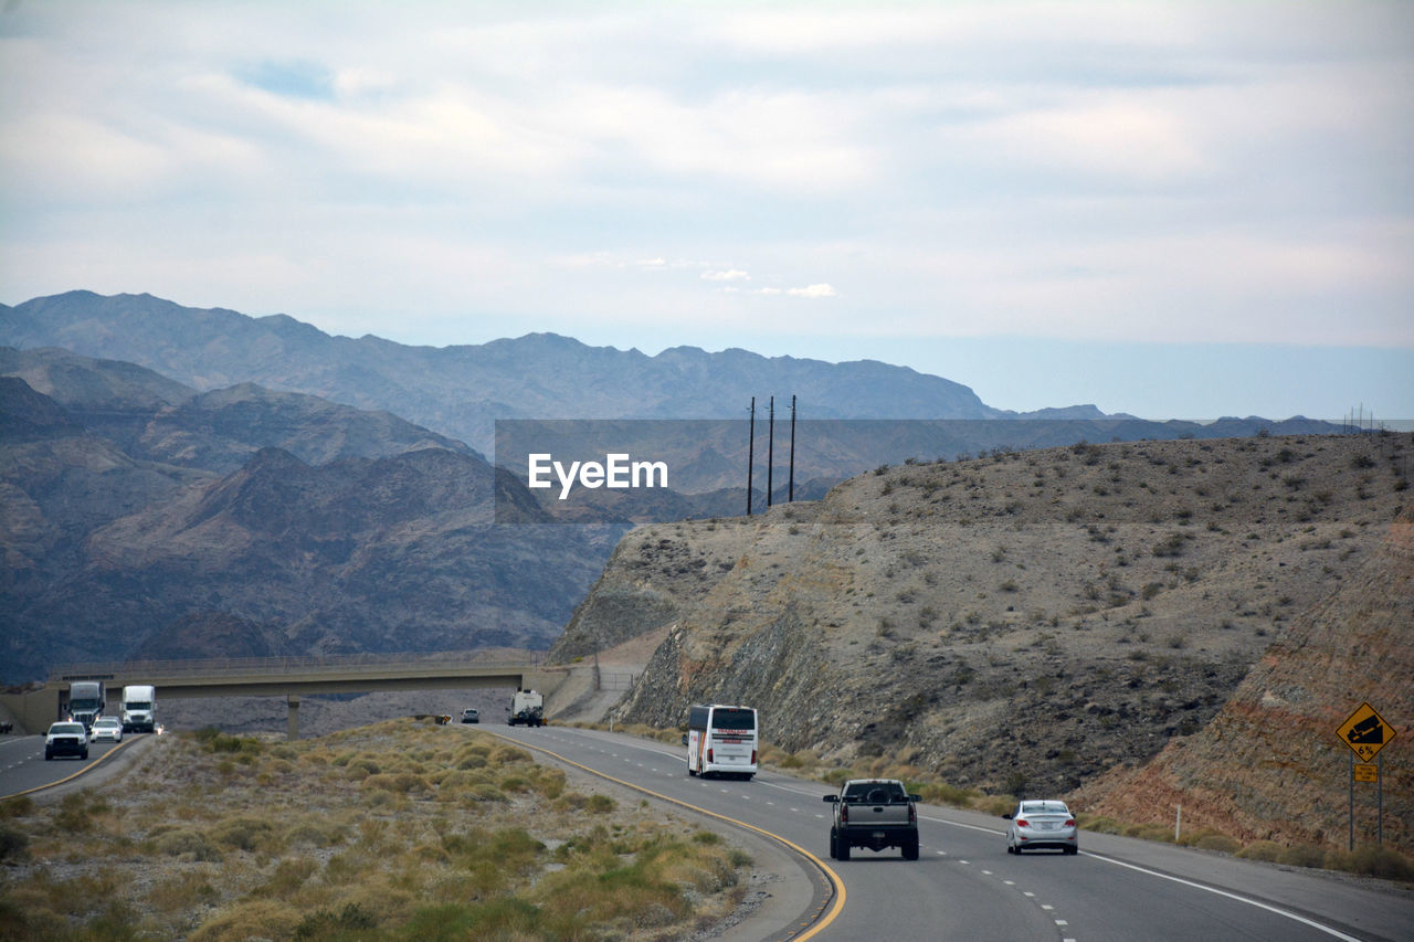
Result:
{"label": "whole hazy blue-grey mountain range, near and far ridges, beyond the overpass", "polygon": [[631,522],[745,509],[744,431],[674,427],[656,440],[684,458],[673,491],[632,506],[598,491],[568,513],[591,526],[549,526],[553,499],[482,457],[496,419],[741,421],[752,396],[783,416],[793,393],[810,416],[799,498],[915,457],[1325,427],[1017,416],[878,362],[646,356],[549,334],[434,349],[146,294],[0,306],[0,344],[7,680],[191,651],[202,624],[211,655],[546,648]]}

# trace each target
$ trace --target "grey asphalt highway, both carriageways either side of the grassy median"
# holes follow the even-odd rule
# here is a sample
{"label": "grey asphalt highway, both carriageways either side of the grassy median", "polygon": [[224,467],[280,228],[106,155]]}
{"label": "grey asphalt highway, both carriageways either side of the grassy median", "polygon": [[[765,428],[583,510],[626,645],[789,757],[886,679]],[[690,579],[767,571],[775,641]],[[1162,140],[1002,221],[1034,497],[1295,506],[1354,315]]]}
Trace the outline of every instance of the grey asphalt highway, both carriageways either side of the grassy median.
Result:
{"label": "grey asphalt highway, both carriageways either side of the grassy median", "polygon": [[[1370,880],[1080,833],[1080,854],[1005,853],[1004,823],[921,806],[918,861],[895,850],[854,849],[829,859],[830,789],[778,772],[749,782],[687,775],[680,747],[568,727],[482,728],[604,777],[648,802],[645,813],[696,815],[735,837],[781,880],[768,904],[723,935],[748,939],[1024,939],[1205,942],[1414,939],[1414,894]],[[0,796],[35,789],[105,788],[122,747],[95,744],[88,761],[44,760],[44,737],[0,738]],[[119,762],[122,765],[122,762]],[[92,772],[98,771],[98,775]]]}

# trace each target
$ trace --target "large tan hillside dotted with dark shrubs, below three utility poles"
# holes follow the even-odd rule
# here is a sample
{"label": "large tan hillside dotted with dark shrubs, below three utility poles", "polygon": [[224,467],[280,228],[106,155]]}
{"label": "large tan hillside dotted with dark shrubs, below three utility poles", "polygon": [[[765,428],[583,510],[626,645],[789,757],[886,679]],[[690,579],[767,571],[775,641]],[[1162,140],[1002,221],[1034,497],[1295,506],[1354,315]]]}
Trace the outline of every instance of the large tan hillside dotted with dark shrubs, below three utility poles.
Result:
{"label": "large tan hillside dotted with dark shrubs, below three utility poles", "polygon": [[880,468],[820,502],[629,533],[554,656],[667,625],[617,719],[747,702],[789,750],[1068,792],[1202,730],[1356,578],[1411,451],[1257,436]]}

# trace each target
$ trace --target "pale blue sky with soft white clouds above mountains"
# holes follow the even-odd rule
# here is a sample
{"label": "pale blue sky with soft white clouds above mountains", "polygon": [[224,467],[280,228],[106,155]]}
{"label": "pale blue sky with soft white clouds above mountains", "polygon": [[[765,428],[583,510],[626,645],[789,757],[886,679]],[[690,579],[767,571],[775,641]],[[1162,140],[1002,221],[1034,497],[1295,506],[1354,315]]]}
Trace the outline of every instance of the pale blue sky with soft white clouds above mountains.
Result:
{"label": "pale blue sky with soft white clouds above mountains", "polygon": [[0,88],[6,304],[1414,419],[1404,0],[0,0]]}

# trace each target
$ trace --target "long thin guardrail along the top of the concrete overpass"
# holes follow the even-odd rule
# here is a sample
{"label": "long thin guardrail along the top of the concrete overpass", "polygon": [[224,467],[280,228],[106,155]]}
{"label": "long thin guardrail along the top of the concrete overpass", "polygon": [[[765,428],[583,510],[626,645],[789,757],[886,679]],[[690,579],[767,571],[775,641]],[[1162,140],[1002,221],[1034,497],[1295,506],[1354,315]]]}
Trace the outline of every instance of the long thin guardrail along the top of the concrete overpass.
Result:
{"label": "long thin guardrail along the top of the concrete overpass", "polygon": [[387,668],[414,666],[420,663],[460,663],[499,666],[543,666],[543,651],[420,651],[420,652],[378,652],[325,656],[290,658],[211,658],[191,661],[115,661],[93,663],[65,663],[49,669],[51,682],[110,680],[117,675],[124,678],[151,676],[174,678],[182,675],[222,673],[305,673],[310,670],[354,670],[378,672]]}

